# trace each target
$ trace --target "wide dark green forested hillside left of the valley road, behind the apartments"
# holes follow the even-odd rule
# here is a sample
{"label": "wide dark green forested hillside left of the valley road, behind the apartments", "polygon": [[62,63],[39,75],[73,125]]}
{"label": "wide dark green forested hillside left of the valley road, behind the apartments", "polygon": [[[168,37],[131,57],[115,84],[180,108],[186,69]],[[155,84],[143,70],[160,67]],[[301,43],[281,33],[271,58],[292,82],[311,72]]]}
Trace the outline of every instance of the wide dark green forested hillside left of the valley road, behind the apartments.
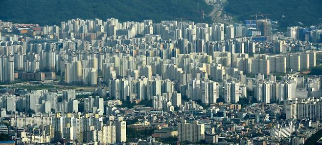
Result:
{"label": "wide dark green forested hillside left of the valley road, behind the apartments", "polygon": [[[0,0],[0,19],[15,23],[60,24],[72,18],[121,21],[195,18],[212,6],[204,0]],[[198,21],[199,19],[192,19]],[[209,20],[209,18],[208,18]]]}

